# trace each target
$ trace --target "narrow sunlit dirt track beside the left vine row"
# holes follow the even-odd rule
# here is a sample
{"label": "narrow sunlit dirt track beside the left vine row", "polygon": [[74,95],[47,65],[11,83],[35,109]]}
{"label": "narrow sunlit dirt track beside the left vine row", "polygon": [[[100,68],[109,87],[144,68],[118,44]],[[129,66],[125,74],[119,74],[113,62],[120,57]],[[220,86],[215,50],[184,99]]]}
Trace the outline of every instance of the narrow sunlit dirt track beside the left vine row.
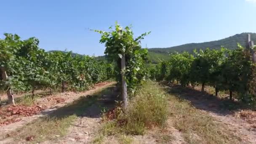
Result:
{"label": "narrow sunlit dirt track beside the left vine row", "polygon": [[[42,112],[40,112],[40,114],[38,115],[33,115],[30,117],[21,117],[21,121],[16,122],[16,123],[11,123],[9,125],[5,125],[5,126],[1,126],[0,127],[0,139],[3,139],[3,137],[5,137],[6,134],[9,134],[12,131],[15,131],[18,128],[21,128],[22,126],[26,125],[27,123],[31,122],[32,120],[37,119],[38,117],[42,117],[45,115],[49,115],[52,112],[54,112],[58,107],[63,107],[64,105],[79,99],[81,96],[86,96],[86,95],[90,95],[91,93],[95,93],[96,91],[100,91],[102,88],[106,88],[109,85],[113,85],[114,82],[112,83],[103,83],[102,85],[96,85],[92,90],[89,91],[85,91],[85,92],[81,92],[81,93],[74,93],[74,92],[65,92],[65,93],[58,93],[55,94],[51,97],[61,97],[63,99],[65,99],[64,103],[55,103],[54,101],[52,101],[52,103],[48,102],[47,104],[47,109],[43,110]],[[49,97],[47,98],[42,98],[42,99],[38,99],[37,100],[37,104],[44,104],[46,103],[46,101],[48,100]],[[1,141],[0,141],[1,143]]]}

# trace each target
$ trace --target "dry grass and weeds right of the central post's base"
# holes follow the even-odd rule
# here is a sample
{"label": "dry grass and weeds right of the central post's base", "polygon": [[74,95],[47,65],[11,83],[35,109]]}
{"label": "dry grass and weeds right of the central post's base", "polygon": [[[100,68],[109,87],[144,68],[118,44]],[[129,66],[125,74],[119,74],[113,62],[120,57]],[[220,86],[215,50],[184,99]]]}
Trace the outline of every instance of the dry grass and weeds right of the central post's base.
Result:
{"label": "dry grass and weeds right of the central post's base", "polygon": [[[119,127],[117,125],[118,118],[114,121],[108,121],[102,125],[101,137],[107,135],[117,136],[120,133],[124,136],[143,135],[145,130],[147,130],[147,134],[150,134],[156,142],[171,143],[175,139],[171,132],[160,133],[159,131],[159,133],[148,133],[149,131],[154,131],[150,129],[149,123],[154,126],[159,124],[158,128],[165,131],[165,121],[169,114],[169,119],[172,121],[173,126],[179,130],[184,141],[188,144],[240,143],[241,139],[233,131],[230,131],[226,125],[217,122],[206,112],[196,109],[189,101],[166,91],[169,91],[169,89],[165,89],[153,82],[147,82],[144,89],[139,92],[140,94],[130,102],[127,114],[129,118],[127,118],[126,125]],[[168,103],[162,100],[157,102],[158,100],[156,99],[154,101],[147,101],[154,96],[163,98],[162,100],[168,101]]]}

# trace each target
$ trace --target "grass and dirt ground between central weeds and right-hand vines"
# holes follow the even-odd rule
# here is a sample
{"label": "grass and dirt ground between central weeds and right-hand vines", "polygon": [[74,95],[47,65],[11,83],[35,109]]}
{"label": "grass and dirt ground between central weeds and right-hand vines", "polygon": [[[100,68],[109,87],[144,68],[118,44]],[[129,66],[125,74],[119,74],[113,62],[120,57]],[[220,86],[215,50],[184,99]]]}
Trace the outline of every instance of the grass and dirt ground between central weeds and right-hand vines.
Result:
{"label": "grass and dirt ground between central weeds and right-hand vines", "polygon": [[[152,85],[152,87],[157,85]],[[223,104],[234,104],[197,88],[180,85],[162,85],[169,104],[169,118],[165,128],[151,128],[143,136],[114,135],[95,138],[97,143],[111,144],[255,144],[255,112],[236,109],[228,110]],[[221,92],[221,97],[226,97]],[[215,97],[215,98],[214,98]],[[242,107],[240,107],[242,108]],[[246,113],[248,117],[243,115]],[[249,118],[251,121],[249,121]]]}

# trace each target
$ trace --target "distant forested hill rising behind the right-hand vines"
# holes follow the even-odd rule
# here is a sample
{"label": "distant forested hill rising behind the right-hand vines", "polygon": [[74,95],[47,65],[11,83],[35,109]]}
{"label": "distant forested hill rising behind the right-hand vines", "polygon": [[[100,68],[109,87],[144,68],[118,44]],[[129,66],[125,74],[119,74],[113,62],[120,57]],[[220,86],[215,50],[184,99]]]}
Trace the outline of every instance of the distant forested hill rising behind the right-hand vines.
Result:
{"label": "distant forested hill rising behind the right-hand vines", "polygon": [[183,52],[188,51],[192,52],[195,48],[196,49],[219,49],[221,46],[224,46],[228,49],[235,49],[237,48],[237,43],[240,43],[242,46],[246,45],[248,40],[248,34],[251,34],[251,40],[256,42],[256,33],[241,33],[237,35],[233,35],[231,37],[227,37],[221,40],[215,40],[211,42],[205,43],[188,43],[184,45],[173,46],[170,48],[149,48],[149,51],[154,53],[172,53],[172,52]]}

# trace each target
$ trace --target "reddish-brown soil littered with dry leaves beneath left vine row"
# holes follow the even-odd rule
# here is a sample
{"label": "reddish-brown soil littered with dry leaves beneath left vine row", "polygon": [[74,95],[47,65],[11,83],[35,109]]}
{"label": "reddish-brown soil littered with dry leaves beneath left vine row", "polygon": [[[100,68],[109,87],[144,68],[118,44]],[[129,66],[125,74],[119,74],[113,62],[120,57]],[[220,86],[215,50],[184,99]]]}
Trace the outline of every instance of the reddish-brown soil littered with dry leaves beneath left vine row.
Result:
{"label": "reddish-brown soil littered with dry leaves beneath left vine row", "polygon": [[[109,84],[110,82],[102,82],[95,84],[92,89],[96,89],[102,87],[104,85]],[[42,93],[41,90],[37,91],[38,93]],[[32,106],[24,106],[17,104],[13,105],[5,105],[0,107],[0,127],[4,125],[9,125],[11,123],[16,123],[22,120],[24,117],[29,117],[32,115],[37,115],[45,109],[50,109],[54,107],[59,107],[61,105],[65,105],[68,102],[73,101],[78,95],[83,95],[85,92],[65,92],[65,93],[55,93],[52,96],[45,96],[42,98],[36,99]],[[18,95],[15,98],[24,96]]]}

